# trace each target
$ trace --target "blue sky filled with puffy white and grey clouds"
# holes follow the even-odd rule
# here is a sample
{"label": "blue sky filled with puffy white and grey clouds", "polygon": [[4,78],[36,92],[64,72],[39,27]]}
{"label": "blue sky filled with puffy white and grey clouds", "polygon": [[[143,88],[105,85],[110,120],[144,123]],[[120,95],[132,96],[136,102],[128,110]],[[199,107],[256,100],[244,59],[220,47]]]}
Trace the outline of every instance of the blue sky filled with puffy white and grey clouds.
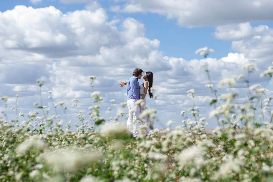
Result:
{"label": "blue sky filled with puffy white and grey clouds", "polygon": [[[157,99],[146,100],[157,110],[156,128],[166,128],[168,120],[181,125],[180,112],[185,110],[190,117],[188,108],[193,106],[207,118],[206,127],[214,128],[217,121],[208,116],[214,108],[205,102],[212,94],[205,87],[209,81],[201,65],[208,64],[219,95],[233,91],[238,103],[244,103],[246,83],[239,80],[232,88],[218,83],[240,74],[247,77],[242,67],[254,63],[259,71],[251,74],[250,85],[265,86],[267,78],[259,75],[273,60],[272,8],[271,0],[1,0],[0,96],[9,99],[6,108],[0,103],[0,110],[15,118],[11,108],[16,94],[25,116],[37,109],[33,103],[41,104],[39,79],[45,83],[42,105],[55,114],[48,99],[52,90],[54,103],[65,103],[63,118],[72,124],[78,122],[72,99],[79,99],[79,109],[88,116],[93,91],[103,97],[100,107],[105,118],[122,111],[128,114],[120,106],[126,102],[126,87],[119,87],[119,82],[141,68],[154,75]],[[214,52],[204,59],[195,54],[202,47]],[[192,88],[194,102],[187,96]],[[270,96],[271,82],[266,88]],[[116,103],[109,113],[111,99]],[[57,106],[57,111],[62,113],[62,108]],[[126,123],[125,116],[120,122]]]}

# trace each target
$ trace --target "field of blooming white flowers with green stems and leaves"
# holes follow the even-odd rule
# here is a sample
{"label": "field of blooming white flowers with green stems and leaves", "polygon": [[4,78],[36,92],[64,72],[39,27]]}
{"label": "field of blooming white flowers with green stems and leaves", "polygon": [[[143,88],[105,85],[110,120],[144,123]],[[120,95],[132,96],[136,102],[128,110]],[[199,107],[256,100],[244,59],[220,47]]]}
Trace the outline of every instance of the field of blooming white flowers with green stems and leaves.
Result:
{"label": "field of blooming white flowers with green stems and leaves", "polygon": [[[197,53],[207,57],[211,51],[205,48]],[[210,78],[207,65],[204,67]],[[244,69],[249,74],[256,70],[253,64]],[[270,81],[272,74],[270,66],[261,77]],[[93,86],[96,77],[90,79]],[[220,84],[232,86],[238,79],[242,76],[222,80]],[[42,85],[39,81],[38,86]],[[272,98],[265,95],[260,85],[253,85],[248,86],[248,102],[238,104],[234,102],[236,93],[221,95],[211,83],[206,87],[214,94],[209,103],[214,106],[210,116],[219,125],[212,136],[204,128],[206,118],[200,117],[199,108],[194,106],[188,110],[191,118],[181,111],[183,126],[163,132],[154,129],[145,136],[147,126],[142,125],[140,135],[133,138],[126,126],[117,122],[123,113],[110,121],[100,116],[99,92],[91,94],[91,121],[79,112],[81,124],[76,131],[70,130],[70,123],[62,126],[59,115],[47,116],[44,106],[28,115],[18,113],[18,117],[24,118],[22,123],[18,117],[8,120],[2,111],[0,181],[273,181]],[[187,94],[194,99],[194,89]],[[7,97],[2,97],[2,101],[6,104]],[[73,102],[77,107],[79,100]],[[262,106],[264,123],[256,122],[256,102]],[[64,103],[58,104],[66,110]],[[17,106],[12,109],[17,112]],[[147,110],[145,116],[153,119],[155,113]]]}

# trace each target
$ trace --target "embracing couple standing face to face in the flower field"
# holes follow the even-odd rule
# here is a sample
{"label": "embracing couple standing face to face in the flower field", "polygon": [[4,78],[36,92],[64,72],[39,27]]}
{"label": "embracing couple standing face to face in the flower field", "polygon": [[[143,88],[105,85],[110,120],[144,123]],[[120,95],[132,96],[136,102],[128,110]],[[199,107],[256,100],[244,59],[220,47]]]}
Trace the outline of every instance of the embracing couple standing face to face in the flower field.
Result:
{"label": "embracing couple standing face to face in the flower field", "polygon": [[[153,93],[150,89],[153,86],[153,73],[148,71],[143,76],[144,82],[139,84],[138,79],[142,78],[143,70],[136,68],[133,72],[133,77],[129,79],[127,83],[121,83],[120,86],[123,87],[127,84],[127,99],[126,103],[129,109],[129,117],[127,120],[127,129],[134,137],[138,136],[139,125],[147,123],[146,136],[149,134],[150,125],[154,125],[154,121],[146,116],[143,118],[143,122],[138,121],[138,117],[145,110],[146,107],[146,96],[149,94],[150,98],[153,98]],[[138,106],[137,101],[142,99],[143,105]]]}

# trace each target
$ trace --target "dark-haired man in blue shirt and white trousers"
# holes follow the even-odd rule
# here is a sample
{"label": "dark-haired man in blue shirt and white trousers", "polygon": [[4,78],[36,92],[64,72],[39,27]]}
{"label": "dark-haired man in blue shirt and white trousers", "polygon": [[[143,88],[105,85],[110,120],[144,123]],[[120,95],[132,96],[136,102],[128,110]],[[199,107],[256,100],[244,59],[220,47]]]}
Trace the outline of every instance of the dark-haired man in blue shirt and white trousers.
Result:
{"label": "dark-haired man in blue shirt and white trousers", "polygon": [[127,120],[127,129],[133,134],[134,137],[138,135],[138,124],[136,120],[139,116],[139,106],[136,105],[136,101],[140,99],[140,90],[138,79],[142,77],[142,69],[136,68],[127,83],[127,99],[126,103],[129,109],[129,117]]}

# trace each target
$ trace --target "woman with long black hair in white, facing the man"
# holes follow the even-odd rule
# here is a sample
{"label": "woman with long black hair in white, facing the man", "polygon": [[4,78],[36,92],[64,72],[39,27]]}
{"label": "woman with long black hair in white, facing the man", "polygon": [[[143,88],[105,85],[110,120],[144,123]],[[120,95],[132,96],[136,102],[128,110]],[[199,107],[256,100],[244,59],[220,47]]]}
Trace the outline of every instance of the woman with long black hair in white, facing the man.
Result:
{"label": "woman with long black hair in white, facing the man", "polygon": [[[146,96],[147,92],[149,93],[149,97],[153,98],[153,93],[151,93],[151,87],[153,86],[153,73],[148,71],[143,76],[144,82],[140,84],[140,99],[143,99],[143,106],[140,106],[140,114],[145,110],[146,108]],[[123,87],[127,85],[127,82],[121,82],[120,87]],[[146,129],[146,136],[148,136],[151,128],[153,128],[154,121],[150,121],[149,117],[145,116],[143,117],[144,122],[147,123],[148,127]]]}

